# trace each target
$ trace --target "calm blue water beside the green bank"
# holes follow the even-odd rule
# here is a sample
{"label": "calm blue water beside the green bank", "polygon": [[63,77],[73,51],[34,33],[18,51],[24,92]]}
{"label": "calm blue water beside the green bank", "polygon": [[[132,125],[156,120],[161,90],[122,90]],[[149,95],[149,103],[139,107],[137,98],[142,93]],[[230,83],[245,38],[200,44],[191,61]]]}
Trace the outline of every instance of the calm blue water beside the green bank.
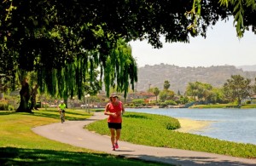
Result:
{"label": "calm blue water beside the green bank", "polygon": [[256,145],[256,109],[126,108],[126,111],[212,121],[207,129],[193,134]]}

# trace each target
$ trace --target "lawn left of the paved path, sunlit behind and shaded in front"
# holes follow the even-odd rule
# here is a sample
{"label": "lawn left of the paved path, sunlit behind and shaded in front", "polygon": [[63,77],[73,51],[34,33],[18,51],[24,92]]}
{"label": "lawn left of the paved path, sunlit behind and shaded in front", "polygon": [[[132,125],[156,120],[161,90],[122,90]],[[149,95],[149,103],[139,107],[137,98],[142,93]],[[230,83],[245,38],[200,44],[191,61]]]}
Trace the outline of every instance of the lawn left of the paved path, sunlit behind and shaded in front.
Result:
{"label": "lawn left of the paved path, sunlit behind and shaded in front", "polygon": [[[90,117],[84,111],[67,110],[67,120]],[[56,109],[34,113],[0,112],[0,165],[165,165],[146,163],[48,140],[32,128],[60,122]]]}

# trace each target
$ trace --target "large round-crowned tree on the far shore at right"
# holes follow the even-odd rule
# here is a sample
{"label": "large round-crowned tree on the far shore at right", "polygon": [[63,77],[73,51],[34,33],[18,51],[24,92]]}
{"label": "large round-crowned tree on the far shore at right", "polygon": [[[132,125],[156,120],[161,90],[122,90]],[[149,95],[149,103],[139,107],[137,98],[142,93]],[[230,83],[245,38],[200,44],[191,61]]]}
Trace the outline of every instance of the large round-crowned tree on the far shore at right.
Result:
{"label": "large round-crowned tree on the far shore at right", "polygon": [[241,100],[246,98],[252,91],[250,86],[251,80],[245,79],[240,75],[232,75],[227,82],[224,83],[224,95],[230,101],[237,100],[238,105],[241,105]]}

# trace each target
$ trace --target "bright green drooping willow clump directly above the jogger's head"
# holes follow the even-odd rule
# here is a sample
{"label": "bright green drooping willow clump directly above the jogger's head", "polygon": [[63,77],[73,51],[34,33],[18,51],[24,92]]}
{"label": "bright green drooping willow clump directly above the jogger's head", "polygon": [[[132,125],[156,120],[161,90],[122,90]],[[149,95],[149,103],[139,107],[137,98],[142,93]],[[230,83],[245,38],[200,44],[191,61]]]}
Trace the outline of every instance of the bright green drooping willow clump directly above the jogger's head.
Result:
{"label": "bright green drooping willow clump directly above the jogger's head", "polygon": [[134,89],[134,83],[137,82],[136,60],[131,55],[131,46],[122,39],[117,41],[116,48],[112,49],[108,56],[104,69],[104,82],[107,95],[111,86],[117,92],[124,92],[125,97],[129,85],[131,84],[131,89]]}

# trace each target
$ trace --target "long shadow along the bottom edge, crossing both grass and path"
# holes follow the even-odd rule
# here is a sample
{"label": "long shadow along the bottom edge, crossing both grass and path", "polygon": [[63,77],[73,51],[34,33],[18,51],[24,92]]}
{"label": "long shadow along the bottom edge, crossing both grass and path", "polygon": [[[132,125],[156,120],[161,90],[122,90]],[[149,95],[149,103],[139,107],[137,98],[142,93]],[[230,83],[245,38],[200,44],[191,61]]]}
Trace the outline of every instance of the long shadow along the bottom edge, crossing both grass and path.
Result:
{"label": "long shadow along the bottom edge, crossing both grass and path", "polygon": [[[126,155],[129,156],[129,155]],[[131,155],[132,157],[133,155]],[[240,163],[236,161],[222,160],[211,161],[212,157],[154,157],[148,155],[139,155],[138,158],[148,160],[144,162],[138,159],[127,159],[108,154],[99,154],[93,152],[67,152],[51,151],[40,149],[22,149],[15,147],[0,148],[0,165],[127,165],[127,166],[151,166],[151,165],[172,165],[179,163],[181,165],[225,165],[225,166],[253,166],[254,163]],[[149,159],[148,159],[149,158]],[[171,163],[151,163],[149,161]],[[200,161],[200,163],[197,163]],[[178,164],[178,165],[179,165]]]}

